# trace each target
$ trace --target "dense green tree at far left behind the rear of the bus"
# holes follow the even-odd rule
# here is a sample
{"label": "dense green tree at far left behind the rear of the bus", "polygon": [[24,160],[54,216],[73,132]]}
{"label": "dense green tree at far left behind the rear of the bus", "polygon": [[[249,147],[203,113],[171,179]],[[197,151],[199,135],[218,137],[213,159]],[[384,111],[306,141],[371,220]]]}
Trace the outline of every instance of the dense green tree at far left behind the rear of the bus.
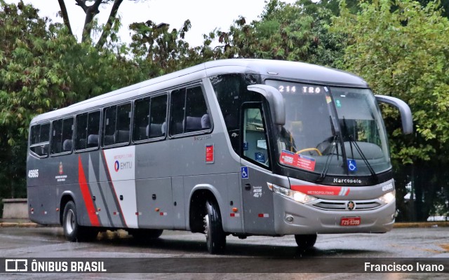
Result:
{"label": "dense green tree at far left behind the rear of the bus", "polygon": [[23,197],[32,118],[143,77],[123,46],[99,52],[32,5],[0,4],[0,197]]}

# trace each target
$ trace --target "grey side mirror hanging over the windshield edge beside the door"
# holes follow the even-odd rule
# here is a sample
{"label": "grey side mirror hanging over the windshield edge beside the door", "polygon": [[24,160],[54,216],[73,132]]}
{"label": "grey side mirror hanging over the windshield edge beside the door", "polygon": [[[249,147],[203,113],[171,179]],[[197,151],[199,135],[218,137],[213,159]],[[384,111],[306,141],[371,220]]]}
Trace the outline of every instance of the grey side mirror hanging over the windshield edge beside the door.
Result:
{"label": "grey side mirror hanging over the windshield edge beside the door", "polygon": [[274,125],[286,124],[286,105],[279,90],[270,85],[248,85],[247,88],[252,92],[262,94],[267,99]]}

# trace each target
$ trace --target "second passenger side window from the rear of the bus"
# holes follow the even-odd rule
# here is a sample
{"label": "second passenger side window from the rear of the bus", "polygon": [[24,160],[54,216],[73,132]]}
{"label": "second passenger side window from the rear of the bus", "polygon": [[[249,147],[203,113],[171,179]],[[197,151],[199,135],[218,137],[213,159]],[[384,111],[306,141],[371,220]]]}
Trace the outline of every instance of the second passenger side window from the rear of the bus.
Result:
{"label": "second passenger side window from the rear of the bus", "polygon": [[53,121],[51,134],[51,153],[72,151],[73,118]]}

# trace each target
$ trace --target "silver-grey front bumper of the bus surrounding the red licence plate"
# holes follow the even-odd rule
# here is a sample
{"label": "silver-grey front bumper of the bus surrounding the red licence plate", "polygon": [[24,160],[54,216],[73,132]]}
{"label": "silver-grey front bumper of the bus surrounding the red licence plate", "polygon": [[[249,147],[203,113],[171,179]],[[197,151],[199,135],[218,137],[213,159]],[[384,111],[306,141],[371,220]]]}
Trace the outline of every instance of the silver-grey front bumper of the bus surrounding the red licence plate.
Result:
{"label": "silver-grey front bumper of the bus surrounding the red licence plate", "polygon": [[[274,228],[277,235],[325,233],[383,233],[393,228],[396,202],[364,211],[328,211],[274,195]],[[359,220],[359,225],[341,225]]]}

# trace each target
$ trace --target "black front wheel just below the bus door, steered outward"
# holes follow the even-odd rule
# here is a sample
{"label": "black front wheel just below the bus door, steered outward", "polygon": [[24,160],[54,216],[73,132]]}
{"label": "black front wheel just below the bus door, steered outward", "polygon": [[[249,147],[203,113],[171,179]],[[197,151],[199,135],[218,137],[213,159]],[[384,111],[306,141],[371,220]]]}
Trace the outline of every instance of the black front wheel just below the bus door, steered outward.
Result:
{"label": "black front wheel just below the bus door, steered outward", "polygon": [[206,244],[211,254],[221,253],[226,246],[226,234],[223,232],[220,210],[215,202],[206,202],[206,216],[204,216],[204,232]]}

